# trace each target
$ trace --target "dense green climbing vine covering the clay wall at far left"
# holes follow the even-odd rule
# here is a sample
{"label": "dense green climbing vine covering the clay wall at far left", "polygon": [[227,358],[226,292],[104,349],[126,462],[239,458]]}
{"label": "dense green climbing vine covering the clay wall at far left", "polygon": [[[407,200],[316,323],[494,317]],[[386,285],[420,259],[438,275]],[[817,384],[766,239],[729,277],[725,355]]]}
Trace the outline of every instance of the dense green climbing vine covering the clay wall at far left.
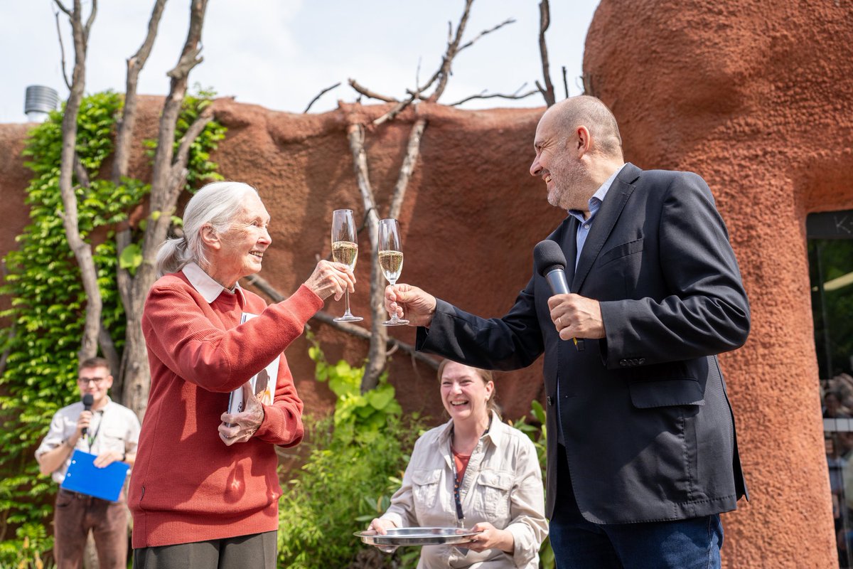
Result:
{"label": "dense green climbing vine covering the clay wall at far left", "polygon": [[[210,91],[186,97],[177,139],[211,99]],[[102,179],[104,162],[113,152],[115,122],[122,104],[123,97],[109,91],[85,97],[77,135],[78,156],[90,177],[88,189],[77,189],[80,234],[92,245],[103,299],[102,320],[119,353],[125,315],[116,286],[114,228],[150,189],[136,179],[126,178],[119,185]],[[11,308],[0,316],[11,322],[11,328],[0,339],[0,352],[8,354],[0,376],[0,448],[4,457],[0,466],[0,541],[10,539],[9,526],[41,524],[50,514],[49,494],[55,488],[38,474],[32,452],[56,409],[78,398],[77,351],[86,299],[62,226],[61,120],[61,112],[51,113],[29,133],[24,154],[33,173],[26,189],[30,224],[17,238],[19,248],[3,259],[7,275],[0,293],[11,299]],[[190,149],[188,189],[219,178],[210,152],[224,136],[223,125],[212,121],[195,140]],[[47,549],[49,541],[42,543]],[[0,566],[5,566],[3,551],[14,549],[9,543],[3,545],[7,548],[0,548]]]}

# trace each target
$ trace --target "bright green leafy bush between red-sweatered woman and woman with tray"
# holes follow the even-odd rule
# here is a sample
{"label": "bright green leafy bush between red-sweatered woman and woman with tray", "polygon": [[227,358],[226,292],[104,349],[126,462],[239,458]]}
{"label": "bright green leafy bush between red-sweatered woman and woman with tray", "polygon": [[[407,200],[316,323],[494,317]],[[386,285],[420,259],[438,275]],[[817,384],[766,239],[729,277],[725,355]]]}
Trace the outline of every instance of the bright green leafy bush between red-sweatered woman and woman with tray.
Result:
{"label": "bright green leafy bush between red-sweatered woman and woman with tray", "polygon": [[[388,508],[423,425],[417,415],[401,419],[385,376],[362,395],[363,368],[329,364],[316,342],[310,357],[316,379],[328,382],[338,399],[333,417],[305,419],[308,459],[279,504],[279,566],[345,567],[367,547],[353,532]],[[419,554],[401,548],[382,560],[386,567],[414,567]]]}

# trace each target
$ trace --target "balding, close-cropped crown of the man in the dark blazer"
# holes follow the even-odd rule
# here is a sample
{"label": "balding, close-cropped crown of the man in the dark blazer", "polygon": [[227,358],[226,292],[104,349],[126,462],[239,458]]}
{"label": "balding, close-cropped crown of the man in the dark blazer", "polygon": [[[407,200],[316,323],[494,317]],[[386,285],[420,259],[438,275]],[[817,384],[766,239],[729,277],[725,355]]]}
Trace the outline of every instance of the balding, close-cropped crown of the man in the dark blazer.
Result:
{"label": "balding, close-cropped crown of the man in the dark blazer", "polygon": [[550,107],[543,119],[545,117],[553,119],[556,131],[566,135],[578,126],[585,126],[595,151],[622,159],[622,136],[619,136],[616,117],[601,99],[589,95],[573,96]]}

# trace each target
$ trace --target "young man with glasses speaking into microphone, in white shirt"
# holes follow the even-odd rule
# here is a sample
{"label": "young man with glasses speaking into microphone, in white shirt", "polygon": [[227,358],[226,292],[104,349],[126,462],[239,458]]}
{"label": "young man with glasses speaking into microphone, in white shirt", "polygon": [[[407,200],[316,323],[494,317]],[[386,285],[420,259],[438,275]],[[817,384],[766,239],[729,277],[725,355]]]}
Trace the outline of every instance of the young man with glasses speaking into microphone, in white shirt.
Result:
{"label": "young man with glasses speaking into microphone, in white shirt", "polygon": [[[90,410],[82,402],[56,411],[50,429],[36,450],[38,469],[61,484],[75,449],[96,455],[96,467],[116,461],[133,466],[139,419],[131,409],[114,403],[107,391],[113,386],[109,363],[92,357],[79,365],[81,398],[92,396]],[[54,557],[58,569],[82,567],[89,531],[95,537],[101,569],[127,566],[127,507],[125,492],[119,502],[60,488],[54,509]]]}

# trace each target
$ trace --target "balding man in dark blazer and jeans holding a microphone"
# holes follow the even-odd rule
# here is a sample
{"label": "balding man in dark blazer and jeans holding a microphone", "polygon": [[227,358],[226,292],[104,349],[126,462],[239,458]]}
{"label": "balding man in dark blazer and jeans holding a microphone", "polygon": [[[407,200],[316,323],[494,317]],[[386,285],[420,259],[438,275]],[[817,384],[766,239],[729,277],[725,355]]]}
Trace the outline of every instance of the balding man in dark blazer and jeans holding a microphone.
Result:
{"label": "balding man in dark blazer and jeans holding a microphone", "polygon": [[750,315],[711,191],[624,163],[595,97],[549,108],[534,148],[531,174],[569,213],[548,239],[571,292],[534,270],[501,318],[406,284],[386,289],[386,308],[419,326],[418,349],[457,362],[519,369],[544,352],[560,569],[719,567],[719,514],[746,484],[717,354],[743,345]]}

